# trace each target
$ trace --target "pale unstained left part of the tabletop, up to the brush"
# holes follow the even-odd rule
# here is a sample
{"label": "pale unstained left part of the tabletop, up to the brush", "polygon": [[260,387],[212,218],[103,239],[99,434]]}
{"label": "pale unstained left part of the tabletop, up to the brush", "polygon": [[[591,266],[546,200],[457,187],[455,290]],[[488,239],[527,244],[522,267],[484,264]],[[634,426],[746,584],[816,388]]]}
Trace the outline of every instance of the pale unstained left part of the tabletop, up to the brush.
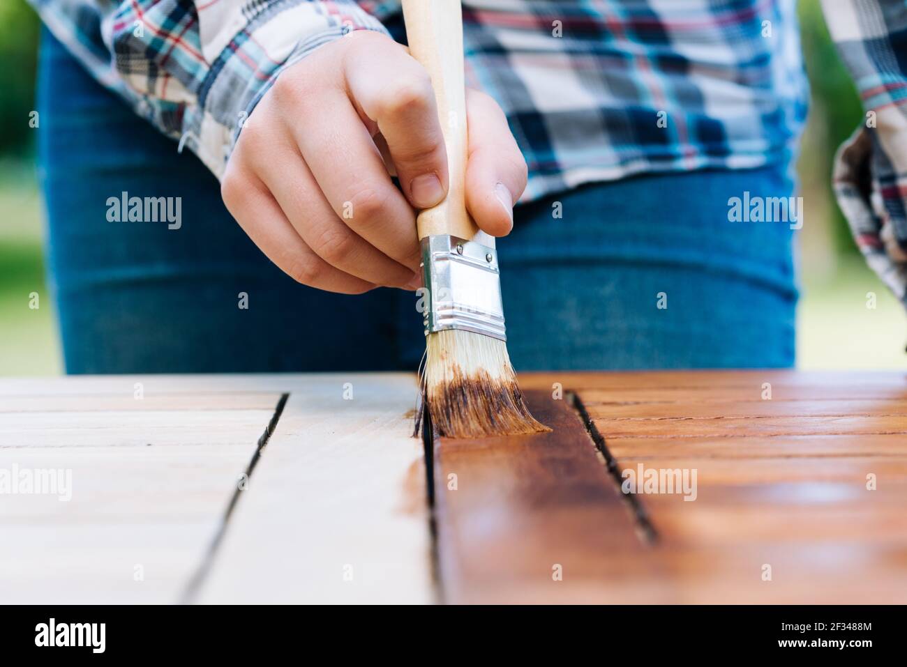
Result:
{"label": "pale unstained left part of the tabletop, up to the brush", "polygon": [[69,501],[0,497],[3,598],[434,601],[415,395],[412,375],[0,381],[0,469],[72,479]]}

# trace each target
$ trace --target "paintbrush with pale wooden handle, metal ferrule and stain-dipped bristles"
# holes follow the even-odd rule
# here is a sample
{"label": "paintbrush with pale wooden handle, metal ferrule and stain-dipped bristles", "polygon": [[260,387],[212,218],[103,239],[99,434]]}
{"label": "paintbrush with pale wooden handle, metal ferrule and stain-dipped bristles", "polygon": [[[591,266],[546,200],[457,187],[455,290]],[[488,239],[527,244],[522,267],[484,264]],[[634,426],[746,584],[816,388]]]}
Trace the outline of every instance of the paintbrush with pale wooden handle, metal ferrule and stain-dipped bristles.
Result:
{"label": "paintbrush with pale wooden handle, metal ferrule and stain-dipped bristles", "polygon": [[479,438],[550,430],[532,418],[507,354],[494,238],[466,211],[466,102],[459,0],[403,0],[413,57],[429,73],[447,148],[447,197],[416,218],[422,248],[424,406],[434,430]]}

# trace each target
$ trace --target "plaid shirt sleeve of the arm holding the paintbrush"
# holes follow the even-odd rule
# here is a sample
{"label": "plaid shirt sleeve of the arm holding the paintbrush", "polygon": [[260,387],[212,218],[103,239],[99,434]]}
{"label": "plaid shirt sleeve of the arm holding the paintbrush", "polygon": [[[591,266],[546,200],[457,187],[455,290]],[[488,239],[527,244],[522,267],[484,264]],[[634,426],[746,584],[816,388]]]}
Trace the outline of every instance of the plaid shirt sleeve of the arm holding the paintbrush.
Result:
{"label": "plaid shirt sleeve of the arm holding the paintbrush", "polygon": [[243,121],[318,46],[384,26],[353,0],[29,0],[54,36],[220,178]]}

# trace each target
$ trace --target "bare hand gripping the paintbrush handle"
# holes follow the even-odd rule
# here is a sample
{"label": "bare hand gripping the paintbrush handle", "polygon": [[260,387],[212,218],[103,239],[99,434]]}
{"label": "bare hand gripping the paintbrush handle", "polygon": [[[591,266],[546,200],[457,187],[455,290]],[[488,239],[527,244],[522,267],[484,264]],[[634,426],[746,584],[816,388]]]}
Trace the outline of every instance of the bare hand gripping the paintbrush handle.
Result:
{"label": "bare hand gripping the paintbrush handle", "polygon": [[[468,91],[466,107],[466,205],[480,228],[503,236],[526,187],[526,163],[491,97]],[[446,189],[428,74],[401,44],[356,31],[280,74],[244,124],[220,191],[288,275],[359,294],[421,284],[413,207],[434,206]]]}

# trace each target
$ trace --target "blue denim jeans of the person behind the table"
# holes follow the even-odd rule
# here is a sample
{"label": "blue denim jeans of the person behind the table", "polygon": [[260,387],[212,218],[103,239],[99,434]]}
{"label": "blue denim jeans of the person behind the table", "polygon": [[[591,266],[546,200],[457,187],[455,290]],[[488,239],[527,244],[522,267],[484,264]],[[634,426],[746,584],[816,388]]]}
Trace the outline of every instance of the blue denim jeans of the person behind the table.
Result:
{"label": "blue denim jeans of the person behind the table", "polygon": [[[39,110],[67,372],[415,369],[424,340],[413,294],[328,294],[283,275],[199,160],[177,154],[46,31]],[[793,232],[727,215],[745,190],[791,195],[788,173],[647,175],[518,207],[498,243],[515,367],[791,366]],[[109,221],[107,200],[122,192],[181,198],[180,228]]]}

